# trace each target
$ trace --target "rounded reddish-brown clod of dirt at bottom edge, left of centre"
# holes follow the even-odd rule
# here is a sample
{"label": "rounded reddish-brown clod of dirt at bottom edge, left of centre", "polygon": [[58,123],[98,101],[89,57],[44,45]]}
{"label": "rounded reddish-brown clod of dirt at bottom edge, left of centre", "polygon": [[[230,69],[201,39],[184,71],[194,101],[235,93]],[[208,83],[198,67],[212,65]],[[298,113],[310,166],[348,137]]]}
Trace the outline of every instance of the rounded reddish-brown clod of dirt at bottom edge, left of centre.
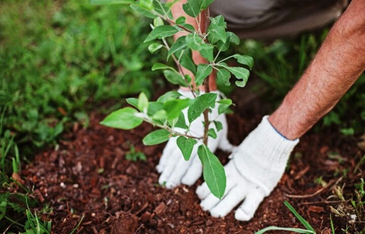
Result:
{"label": "rounded reddish-brown clod of dirt at bottom edge, left of centre", "polygon": [[138,228],[138,218],[134,214],[120,211],[111,223],[111,234],[133,234]]}

